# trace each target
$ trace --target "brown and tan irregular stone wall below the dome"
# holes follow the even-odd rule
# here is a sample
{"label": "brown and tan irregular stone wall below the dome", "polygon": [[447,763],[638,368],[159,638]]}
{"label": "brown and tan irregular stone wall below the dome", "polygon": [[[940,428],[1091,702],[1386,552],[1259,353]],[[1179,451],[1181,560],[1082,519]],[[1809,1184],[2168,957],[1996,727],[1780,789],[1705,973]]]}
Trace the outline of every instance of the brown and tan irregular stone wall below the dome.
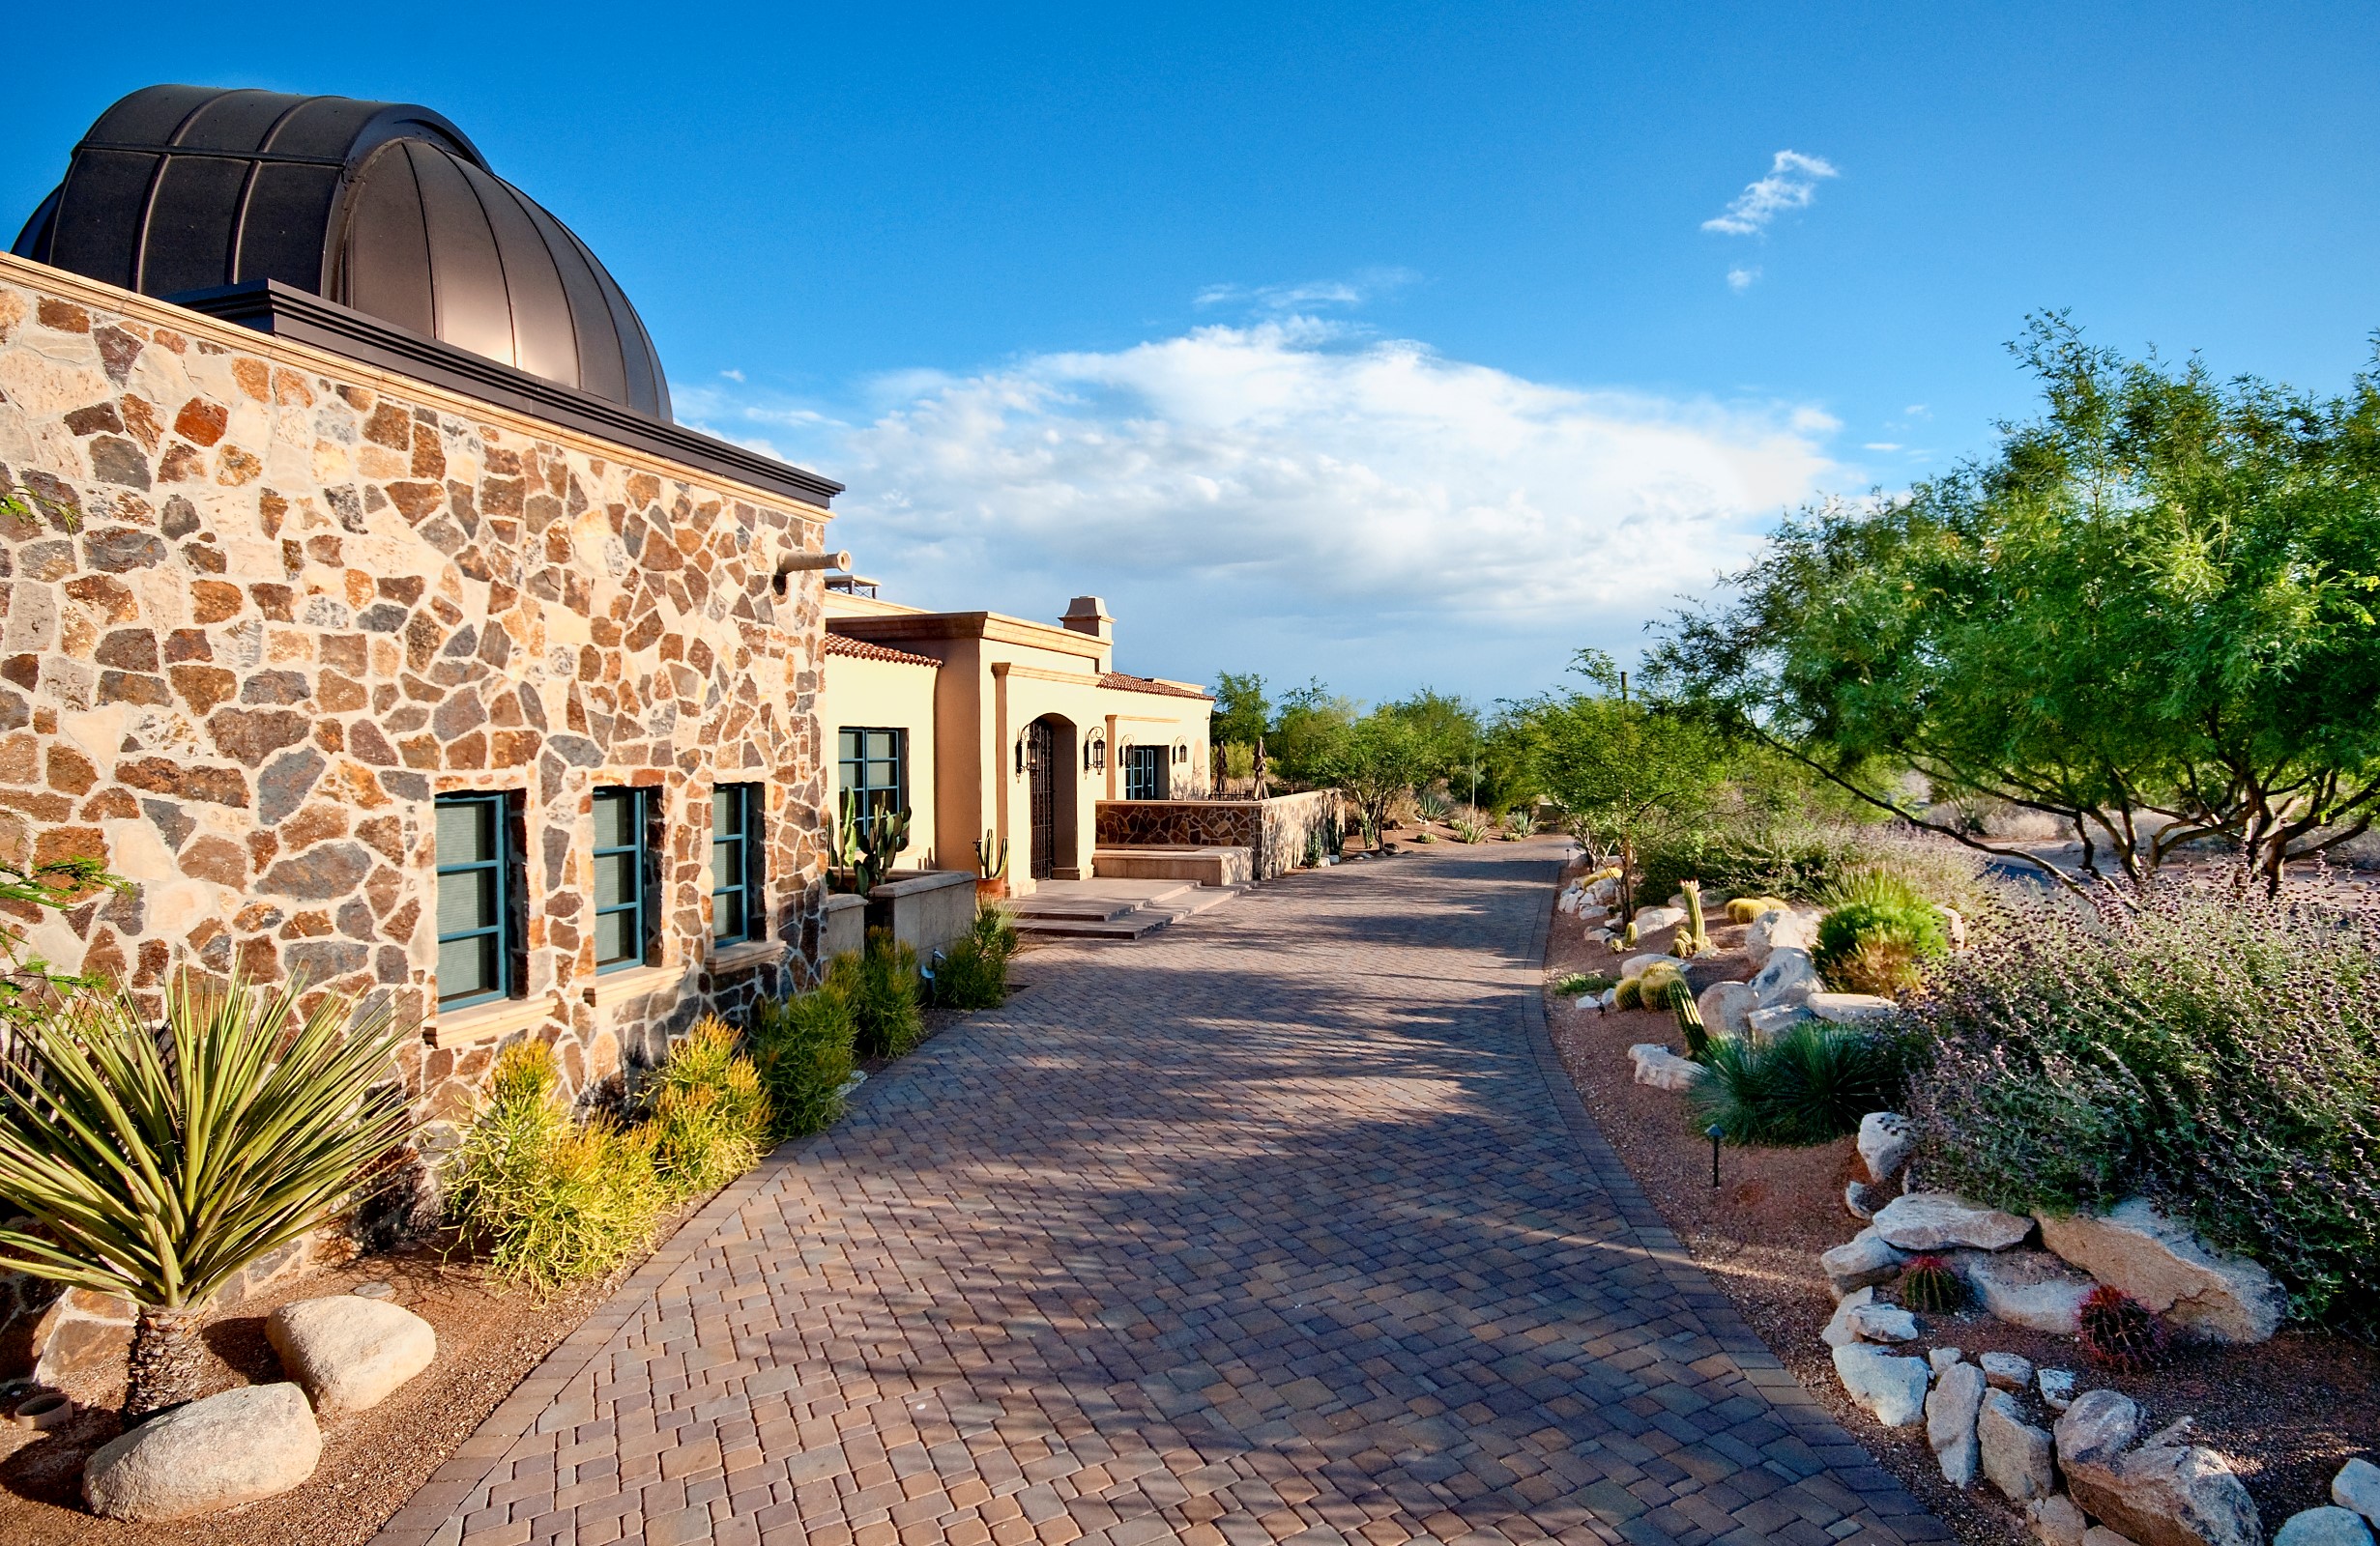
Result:
{"label": "brown and tan irregular stone wall below the dome", "polygon": [[[52,961],[150,1004],[181,966],[378,994],[440,1123],[509,1039],[583,1094],[807,975],[821,590],[774,573],[823,511],[17,259],[0,488],[0,859],[133,882],[40,923]],[[776,935],[721,956],[714,780],[769,790]],[[666,825],[657,966],[605,978],[600,785]],[[450,790],[516,802],[526,997],[440,1016]]]}

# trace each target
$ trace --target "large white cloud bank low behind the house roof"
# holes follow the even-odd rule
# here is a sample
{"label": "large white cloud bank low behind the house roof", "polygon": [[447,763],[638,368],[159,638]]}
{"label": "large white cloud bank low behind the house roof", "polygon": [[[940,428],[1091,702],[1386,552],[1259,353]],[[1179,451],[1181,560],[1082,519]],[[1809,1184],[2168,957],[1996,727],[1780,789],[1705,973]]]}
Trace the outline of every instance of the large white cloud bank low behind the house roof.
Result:
{"label": "large white cloud bank low behind the house roof", "polygon": [[1580,642],[1633,647],[1835,471],[1811,407],[1549,385],[1299,316],[871,385],[850,423],[693,407],[845,480],[833,540],[888,595],[1100,592],[1126,668],[1190,678],[1535,687]]}

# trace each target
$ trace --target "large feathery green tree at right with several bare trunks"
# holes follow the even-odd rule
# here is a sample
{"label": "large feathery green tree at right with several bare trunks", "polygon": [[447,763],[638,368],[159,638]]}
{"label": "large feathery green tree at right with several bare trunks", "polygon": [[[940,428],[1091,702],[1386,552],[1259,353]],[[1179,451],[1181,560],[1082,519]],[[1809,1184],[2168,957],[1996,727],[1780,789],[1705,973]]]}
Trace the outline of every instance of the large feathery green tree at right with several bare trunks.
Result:
{"label": "large feathery green tree at right with several bare trunks", "polygon": [[1790,519],[1652,661],[1844,792],[2061,882],[1864,771],[2044,811],[2090,875],[2225,840],[2278,887],[2380,809],[2380,376],[2218,383],[2063,314],[2011,347],[2040,419],[1906,497]]}

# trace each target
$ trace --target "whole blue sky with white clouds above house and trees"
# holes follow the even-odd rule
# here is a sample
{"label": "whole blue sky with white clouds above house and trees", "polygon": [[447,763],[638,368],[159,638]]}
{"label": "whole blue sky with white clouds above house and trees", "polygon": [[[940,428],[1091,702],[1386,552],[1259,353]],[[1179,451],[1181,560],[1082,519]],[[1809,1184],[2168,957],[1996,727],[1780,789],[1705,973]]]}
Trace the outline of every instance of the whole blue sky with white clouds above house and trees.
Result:
{"label": "whole blue sky with white clouds above house and trees", "polygon": [[1980,450],[2030,309],[2320,390],[2380,326],[2368,5],[90,17],[12,26],[10,212],[152,81],[428,102],[892,595],[1161,675],[1526,692]]}

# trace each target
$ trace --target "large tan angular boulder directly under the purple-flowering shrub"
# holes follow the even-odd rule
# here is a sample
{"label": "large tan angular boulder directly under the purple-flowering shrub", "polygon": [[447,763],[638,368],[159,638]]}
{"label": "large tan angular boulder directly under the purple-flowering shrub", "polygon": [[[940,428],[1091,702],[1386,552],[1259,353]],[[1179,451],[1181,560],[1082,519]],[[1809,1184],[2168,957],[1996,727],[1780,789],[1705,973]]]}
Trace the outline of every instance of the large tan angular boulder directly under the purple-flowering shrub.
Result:
{"label": "large tan angular boulder directly under the purple-flowering shrub", "polygon": [[2268,1341],[2290,1313],[2290,1294],[2271,1272],[2216,1251],[2144,1196],[2106,1213],[2044,1218],[2042,1244],[2173,1325],[2216,1341]]}

